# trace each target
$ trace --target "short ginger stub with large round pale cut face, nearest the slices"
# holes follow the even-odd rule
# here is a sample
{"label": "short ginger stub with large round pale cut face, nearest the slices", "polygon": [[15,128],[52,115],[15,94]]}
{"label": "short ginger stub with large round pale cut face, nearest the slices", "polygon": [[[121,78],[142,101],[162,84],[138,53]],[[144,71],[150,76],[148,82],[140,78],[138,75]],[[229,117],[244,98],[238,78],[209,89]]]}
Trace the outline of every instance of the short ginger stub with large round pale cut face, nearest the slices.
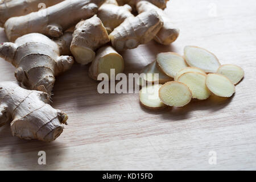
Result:
{"label": "short ginger stub with large round pale cut face, nearest the slices", "polygon": [[111,46],[98,49],[95,59],[89,68],[89,76],[94,80],[100,73],[106,73],[110,78],[110,69],[115,69],[115,74],[122,73],[124,69],[123,57]]}

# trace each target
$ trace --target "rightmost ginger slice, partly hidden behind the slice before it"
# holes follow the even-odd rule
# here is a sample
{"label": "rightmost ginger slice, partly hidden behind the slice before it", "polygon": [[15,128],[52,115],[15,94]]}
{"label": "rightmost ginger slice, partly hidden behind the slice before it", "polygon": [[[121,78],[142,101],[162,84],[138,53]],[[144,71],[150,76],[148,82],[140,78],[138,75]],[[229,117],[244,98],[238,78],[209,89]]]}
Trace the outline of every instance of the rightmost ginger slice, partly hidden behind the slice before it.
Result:
{"label": "rightmost ginger slice, partly hidden behind the slice before it", "polygon": [[234,85],[238,84],[238,82],[240,82],[245,75],[243,69],[234,64],[221,65],[220,68],[218,68],[217,73],[228,77]]}

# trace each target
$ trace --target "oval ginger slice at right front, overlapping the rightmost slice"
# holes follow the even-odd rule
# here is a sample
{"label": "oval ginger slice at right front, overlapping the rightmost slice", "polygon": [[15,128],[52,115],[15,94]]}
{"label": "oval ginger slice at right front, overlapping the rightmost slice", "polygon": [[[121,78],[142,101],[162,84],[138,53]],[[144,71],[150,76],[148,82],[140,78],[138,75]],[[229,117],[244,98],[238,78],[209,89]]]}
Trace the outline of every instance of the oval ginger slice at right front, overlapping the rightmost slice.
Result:
{"label": "oval ginger slice at right front, overlapping the rightmost slice", "polygon": [[216,96],[231,97],[236,90],[229,78],[218,73],[208,74],[205,82],[210,92]]}

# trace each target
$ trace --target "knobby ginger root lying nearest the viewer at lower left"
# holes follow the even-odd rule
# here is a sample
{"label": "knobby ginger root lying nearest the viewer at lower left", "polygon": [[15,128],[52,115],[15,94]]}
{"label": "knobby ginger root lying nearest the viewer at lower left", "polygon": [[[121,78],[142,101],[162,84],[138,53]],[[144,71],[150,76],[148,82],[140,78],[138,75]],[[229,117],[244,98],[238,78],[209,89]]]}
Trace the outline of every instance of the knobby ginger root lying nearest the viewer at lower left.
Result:
{"label": "knobby ginger root lying nearest the viewer at lower left", "polygon": [[13,136],[51,142],[63,132],[68,116],[48,102],[47,93],[0,82],[0,126],[11,121]]}

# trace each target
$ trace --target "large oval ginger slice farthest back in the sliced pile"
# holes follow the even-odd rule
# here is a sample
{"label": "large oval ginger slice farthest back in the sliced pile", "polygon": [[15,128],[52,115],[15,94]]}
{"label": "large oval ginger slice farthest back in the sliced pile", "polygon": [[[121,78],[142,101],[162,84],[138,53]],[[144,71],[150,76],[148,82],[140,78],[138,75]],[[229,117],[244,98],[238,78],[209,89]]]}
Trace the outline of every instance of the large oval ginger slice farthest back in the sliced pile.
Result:
{"label": "large oval ginger slice farthest back in the sliced pile", "polygon": [[185,46],[184,56],[189,66],[203,69],[206,73],[216,73],[221,65],[213,53],[196,46]]}

